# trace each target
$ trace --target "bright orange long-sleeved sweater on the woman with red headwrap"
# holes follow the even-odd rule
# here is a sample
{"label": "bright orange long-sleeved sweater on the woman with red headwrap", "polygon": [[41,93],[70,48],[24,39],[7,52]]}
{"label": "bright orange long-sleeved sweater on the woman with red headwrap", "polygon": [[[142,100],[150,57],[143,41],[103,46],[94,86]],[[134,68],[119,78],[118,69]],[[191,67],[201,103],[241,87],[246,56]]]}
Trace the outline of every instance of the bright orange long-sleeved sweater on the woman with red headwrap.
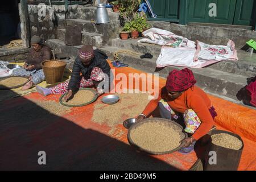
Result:
{"label": "bright orange long-sleeved sweater on the woman with red headwrap", "polygon": [[[162,99],[160,93],[161,92],[159,92],[158,99],[150,101],[142,114],[149,115],[156,109],[158,102]],[[186,90],[181,94],[180,97],[176,98],[174,101],[168,102],[168,104],[172,110],[178,113],[184,113],[187,109],[192,109],[195,111],[201,120],[199,129],[197,129],[195,134],[192,135],[196,140],[206,135],[212,128],[214,121],[209,112],[212,105],[207,94],[205,94],[205,92],[198,86],[193,86],[192,88]]]}

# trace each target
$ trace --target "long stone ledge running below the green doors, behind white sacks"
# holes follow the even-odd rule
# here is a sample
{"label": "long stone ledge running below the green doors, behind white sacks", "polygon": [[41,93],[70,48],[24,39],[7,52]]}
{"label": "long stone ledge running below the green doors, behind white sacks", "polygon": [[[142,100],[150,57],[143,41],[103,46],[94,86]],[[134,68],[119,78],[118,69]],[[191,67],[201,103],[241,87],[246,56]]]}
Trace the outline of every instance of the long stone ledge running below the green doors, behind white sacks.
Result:
{"label": "long stone ledge running below the green doors, behind white sacks", "polygon": [[173,32],[190,40],[207,44],[226,45],[231,39],[236,48],[241,49],[250,39],[256,39],[256,32],[242,28],[210,27],[210,26],[184,26],[170,22],[150,22],[153,27]]}

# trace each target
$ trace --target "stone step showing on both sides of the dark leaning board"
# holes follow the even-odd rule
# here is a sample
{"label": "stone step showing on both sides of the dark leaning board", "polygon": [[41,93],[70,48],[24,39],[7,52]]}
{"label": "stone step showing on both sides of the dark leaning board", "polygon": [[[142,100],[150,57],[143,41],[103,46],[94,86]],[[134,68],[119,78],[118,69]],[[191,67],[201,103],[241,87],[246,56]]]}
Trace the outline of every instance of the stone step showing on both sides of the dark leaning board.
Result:
{"label": "stone step showing on both sides of the dark leaning board", "polygon": [[[57,39],[60,39],[65,42],[65,29],[57,29]],[[103,45],[103,40],[102,40],[103,35],[102,34],[97,34],[97,33],[92,33],[92,32],[82,32],[82,40],[81,44],[86,45],[90,44],[95,47],[102,47]]]}

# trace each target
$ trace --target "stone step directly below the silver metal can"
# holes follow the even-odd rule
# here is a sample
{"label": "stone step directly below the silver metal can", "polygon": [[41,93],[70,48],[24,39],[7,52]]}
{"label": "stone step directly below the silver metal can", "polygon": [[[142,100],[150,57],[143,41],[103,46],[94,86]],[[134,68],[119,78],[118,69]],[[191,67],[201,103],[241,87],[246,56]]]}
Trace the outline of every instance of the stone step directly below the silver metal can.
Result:
{"label": "stone step directly below the silver metal can", "polygon": [[68,19],[66,20],[67,25],[70,26],[82,26],[83,32],[93,32],[97,34],[102,34],[102,44],[110,45],[112,39],[119,37],[120,23],[119,22],[109,22],[103,24],[96,24],[89,20],[84,19]]}

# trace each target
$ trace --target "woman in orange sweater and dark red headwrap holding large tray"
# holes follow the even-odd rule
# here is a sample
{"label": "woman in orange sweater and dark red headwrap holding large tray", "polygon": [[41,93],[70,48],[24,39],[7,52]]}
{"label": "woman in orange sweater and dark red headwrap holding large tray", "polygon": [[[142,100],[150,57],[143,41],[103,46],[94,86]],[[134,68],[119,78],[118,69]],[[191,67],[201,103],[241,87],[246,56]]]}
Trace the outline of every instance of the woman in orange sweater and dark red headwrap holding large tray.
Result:
{"label": "woman in orange sweater and dark red headwrap holding large tray", "polygon": [[160,115],[166,119],[178,119],[181,114],[185,123],[184,148],[179,152],[187,154],[193,151],[196,140],[206,135],[213,127],[217,116],[207,94],[195,86],[196,80],[190,69],[174,70],[167,77],[166,86],[159,93],[157,100],[152,100],[143,113],[136,119],[142,121],[159,106]]}

